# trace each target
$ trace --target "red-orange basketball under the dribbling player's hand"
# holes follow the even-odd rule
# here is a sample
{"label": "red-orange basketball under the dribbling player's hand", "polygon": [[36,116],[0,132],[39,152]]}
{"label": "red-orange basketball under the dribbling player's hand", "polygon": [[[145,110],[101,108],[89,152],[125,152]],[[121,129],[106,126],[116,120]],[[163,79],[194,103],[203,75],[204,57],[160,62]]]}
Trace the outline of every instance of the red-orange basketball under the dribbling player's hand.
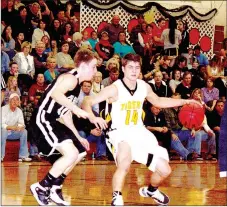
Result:
{"label": "red-orange basketball under the dribbling player's hand", "polygon": [[181,124],[188,129],[199,129],[204,120],[204,109],[199,104],[184,105],[178,114]]}

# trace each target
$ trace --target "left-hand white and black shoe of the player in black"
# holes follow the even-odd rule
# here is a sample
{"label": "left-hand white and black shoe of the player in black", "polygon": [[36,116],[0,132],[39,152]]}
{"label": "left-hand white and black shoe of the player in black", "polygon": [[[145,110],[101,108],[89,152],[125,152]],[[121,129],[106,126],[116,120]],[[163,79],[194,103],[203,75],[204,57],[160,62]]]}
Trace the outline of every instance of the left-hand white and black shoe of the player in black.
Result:
{"label": "left-hand white and black shoe of the player in black", "polygon": [[30,190],[40,206],[49,205],[50,191],[48,189],[39,183],[34,183],[30,186]]}

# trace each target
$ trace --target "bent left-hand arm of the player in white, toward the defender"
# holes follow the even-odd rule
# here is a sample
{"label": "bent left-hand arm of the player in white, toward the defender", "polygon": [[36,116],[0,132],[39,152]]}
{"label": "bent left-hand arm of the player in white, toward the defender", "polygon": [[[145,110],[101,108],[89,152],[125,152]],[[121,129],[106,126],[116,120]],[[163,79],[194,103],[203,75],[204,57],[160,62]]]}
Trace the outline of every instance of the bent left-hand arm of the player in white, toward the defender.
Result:
{"label": "bent left-hand arm of the player in white, toward the defender", "polygon": [[117,88],[112,84],[102,89],[98,94],[94,96],[86,96],[82,102],[81,108],[88,112],[89,120],[91,123],[95,124],[97,128],[106,129],[107,123],[101,117],[96,117],[92,112],[92,106],[94,104],[101,103],[102,101],[109,100],[113,102],[117,99]]}

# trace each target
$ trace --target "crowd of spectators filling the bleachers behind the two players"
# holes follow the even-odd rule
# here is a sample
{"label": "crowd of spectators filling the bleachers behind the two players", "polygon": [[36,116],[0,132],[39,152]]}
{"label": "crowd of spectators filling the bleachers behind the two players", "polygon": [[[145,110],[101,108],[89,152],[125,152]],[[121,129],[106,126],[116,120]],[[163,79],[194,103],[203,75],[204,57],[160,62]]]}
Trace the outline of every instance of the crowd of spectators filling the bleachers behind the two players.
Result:
{"label": "crowd of spectators filling the bleachers behind the two players", "polygon": [[[201,160],[204,158],[201,142],[205,140],[208,143],[205,158],[217,158],[220,119],[226,101],[226,39],[220,53],[208,60],[199,45],[189,48],[184,20],[160,18],[154,26],[139,14],[138,25],[129,34],[130,43],[118,15],[101,31],[91,34],[79,31],[79,21],[71,1],[66,4],[60,0],[2,1],[2,161],[6,139],[16,137],[21,142],[19,161],[40,160],[27,133],[31,131],[32,113],[47,85],[59,74],[75,68],[74,56],[83,47],[96,53],[98,72],[92,82],[82,83],[75,104],[80,106],[85,96],[98,93],[122,78],[121,58],[137,53],[142,62],[140,78],[148,82],[158,96],[193,98],[203,104],[206,111],[202,126],[188,130],[178,120],[179,108],[164,110],[145,104],[147,129],[170,154],[174,149],[185,160]],[[104,108],[105,103],[101,103],[93,110],[98,116]],[[80,135],[97,144],[97,160],[106,160],[104,133],[87,122],[79,123],[76,126]],[[27,139],[31,143],[30,154]]]}

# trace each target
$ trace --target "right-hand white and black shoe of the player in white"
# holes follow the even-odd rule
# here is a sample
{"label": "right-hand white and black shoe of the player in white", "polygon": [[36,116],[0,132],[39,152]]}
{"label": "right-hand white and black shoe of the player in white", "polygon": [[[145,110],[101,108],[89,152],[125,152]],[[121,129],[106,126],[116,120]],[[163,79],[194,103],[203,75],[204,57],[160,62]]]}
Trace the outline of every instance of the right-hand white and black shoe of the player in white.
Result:
{"label": "right-hand white and black shoe of the player in white", "polygon": [[154,192],[150,192],[147,190],[147,187],[142,187],[139,189],[139,194],[142,197],[151,197],[156,203],[163,206],[168,205],[169,203],[169,197],[164,193],[160,192],[158,189]]}

